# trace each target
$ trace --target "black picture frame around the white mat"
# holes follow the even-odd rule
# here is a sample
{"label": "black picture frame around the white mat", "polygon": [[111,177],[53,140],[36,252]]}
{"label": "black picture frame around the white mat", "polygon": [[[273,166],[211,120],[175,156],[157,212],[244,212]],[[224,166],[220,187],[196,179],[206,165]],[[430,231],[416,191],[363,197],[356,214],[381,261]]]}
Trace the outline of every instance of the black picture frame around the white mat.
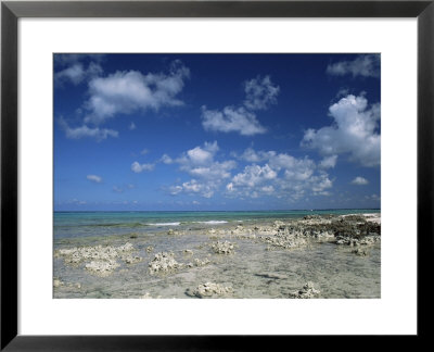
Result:
{"label": "black picture frame around the white mat", "polygon": [[[5,351],[254,350],[286,337],[17,335],[17,21],[21,17],[417,17],[418,337],[431,334],[433,257],[434,1],[2,1],[1,340]],[[403,284],[405,285],[405,284]],[[403,287],[405,289],[405,287]],[[397,307],[398,310],[399,307]],[[425,323],[426,322],[426,323]],[[330,339],[329,339],[330,341]],[[332,342],[333,343],[333,342]]]}

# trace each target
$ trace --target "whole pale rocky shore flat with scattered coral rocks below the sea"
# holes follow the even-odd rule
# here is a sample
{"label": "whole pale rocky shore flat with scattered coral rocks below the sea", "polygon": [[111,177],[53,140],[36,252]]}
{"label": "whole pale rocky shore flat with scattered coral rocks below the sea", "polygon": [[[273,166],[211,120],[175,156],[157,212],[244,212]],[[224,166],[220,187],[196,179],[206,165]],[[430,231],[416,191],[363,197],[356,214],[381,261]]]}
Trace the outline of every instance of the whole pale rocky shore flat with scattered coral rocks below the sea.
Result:
{"label": "whole pale rocky shore flat with scattered coral rocks below the sea", "polygon": [[[339,292],[339,282],[332,290],[321,287],[328,285],[327,280],[305,280],[311,275],[308,268],[299,273],[294,265],[288,266],[288,273],[281,269],[292,261],[303,268],[302,259],[312,260],[312,248],[318,257],[321,250],[342,257],[336,267],[347,265],[344,261],[355,262],[357,269],[369,264],[369,275],[375,282],[380,280],[380,263],[376,256],[371,257],[372,250],[379,255],[380,214],[308,215],[269,223],[168,229],[145,239],[140,234],[129,236],[126,242],[123,239],[110,244],[55,248],[54,298],[244,298],[252,297],[251,291],[265,298],[331,297],[328,291]],[[324,256],[324,261],[329,263],[331,257]],[[255,272],[256,267],[260,271]],[[350,275],[350,268],[345,271]],[[166,291],[170,293],[163,294]]]}

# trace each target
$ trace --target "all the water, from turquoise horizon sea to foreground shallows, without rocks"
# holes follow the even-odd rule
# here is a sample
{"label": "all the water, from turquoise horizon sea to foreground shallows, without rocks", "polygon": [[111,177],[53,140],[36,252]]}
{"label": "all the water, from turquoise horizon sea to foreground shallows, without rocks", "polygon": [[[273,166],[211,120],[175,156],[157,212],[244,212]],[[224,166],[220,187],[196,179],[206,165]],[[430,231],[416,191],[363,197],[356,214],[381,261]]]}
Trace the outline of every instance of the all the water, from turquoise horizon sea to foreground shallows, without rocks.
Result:
{"label": "all the water, from turquoise horizon sea to foreground shallows, without rocks", "polygon": [[[349,246],[312,242],[291,250],[267,250],[267,244],[237,237],[238,225],[271,225],[314,214],[368,214],[380,210],[279,211],[279,212],[56,212],[53,249],[88,246],[119,247],[131,243],[142,257],[137,264],[120,266],[107,277],[53,259],[53,277],[64,282],[53,288],[55,299],[139,299],[144,294],[162,299],[191,299],[189,290],[204,282],[233,288],[229,298],[288,299],[289,293],[312,281],[322,299],[375,299],[381,297],[381,243],[369,255],[353,253]],[[210,228],[225,235],[218,239]],[[169,229],[182,235],[169,235]],[[235,253],[216,254],[210,243],[228,240]],[[148,252],[152,246],[154,250]],[[186,254],[186,251],[193,254]],[[173,252],[178,263],[207,259],[210,264],[181,269],[169,275],[151,275],[149,263],[157,252]],[[79,288],[77,287],[79,286]],[[193,298],[195,299],[195,298]]]}

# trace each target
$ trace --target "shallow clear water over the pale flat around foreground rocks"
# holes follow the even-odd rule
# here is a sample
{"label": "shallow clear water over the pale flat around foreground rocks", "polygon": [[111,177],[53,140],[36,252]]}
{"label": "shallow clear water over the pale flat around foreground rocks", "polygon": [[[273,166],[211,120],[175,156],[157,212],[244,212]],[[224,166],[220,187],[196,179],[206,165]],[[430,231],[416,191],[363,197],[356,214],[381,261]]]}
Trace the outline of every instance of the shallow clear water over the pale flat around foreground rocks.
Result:
{"label": "shallow clear water over the pale flat around foreground rocks", "polygon": [[[228,298],[289,298],[290,292],[299,290],[307,281],[312,281],[320,290],[320,298],[381,296],[380,244],[369,247],[367,256],[352,253],[352,247],[315,241],[297,249],[270,251],[258,240],[229,235],[234,226],[233,223],[196,224],[190,226],[190,230],[184,226],[186,234],[175,236],[167,234],[169,226],[162,226],[154,231],[135,231],[133,235],[122,231],[104,237],[60,237],[54,241],[54,250],[95,244],[117,247],[130,242],[137,249],[135,254],[143,261],[123,263],[112,275],[98,277],[84,269],[84,264],[74,267],[55,257],[54,277],[65,285],[54,289],[54,298],[141,298],[149,292],[152,298],[189,299],[189,290],[207,281],[232,287],[233,293]],[[218,240],[235,243],[235,253],[214,253],[209,244],[217,239],[207,234],[210,227],[227,229],[227,235],[218,236]],[[152,253],[146,253],[148,246],[154,247]],[[192,250],[193,254],[184,254],[184,250]],[[175,253],[179,263],[193,262],[197,257],[208,259],[210,264],[181,268],[174,274],[151,275],[149,262],[155,253],[168,251]],[[80,288],[73,285],[77,282]]]}

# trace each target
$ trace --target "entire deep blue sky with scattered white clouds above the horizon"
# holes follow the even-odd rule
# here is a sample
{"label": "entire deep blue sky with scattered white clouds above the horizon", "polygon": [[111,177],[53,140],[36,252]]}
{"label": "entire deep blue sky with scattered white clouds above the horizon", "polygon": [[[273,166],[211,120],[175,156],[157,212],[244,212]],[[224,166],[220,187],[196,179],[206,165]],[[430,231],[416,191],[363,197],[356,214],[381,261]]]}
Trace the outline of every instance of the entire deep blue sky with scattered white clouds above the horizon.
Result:
{"label": "entire deep blue sky with scattered white clouds above the horizon", "polygon": [[380,55],[53,64],[56,211],[380,208]]}

